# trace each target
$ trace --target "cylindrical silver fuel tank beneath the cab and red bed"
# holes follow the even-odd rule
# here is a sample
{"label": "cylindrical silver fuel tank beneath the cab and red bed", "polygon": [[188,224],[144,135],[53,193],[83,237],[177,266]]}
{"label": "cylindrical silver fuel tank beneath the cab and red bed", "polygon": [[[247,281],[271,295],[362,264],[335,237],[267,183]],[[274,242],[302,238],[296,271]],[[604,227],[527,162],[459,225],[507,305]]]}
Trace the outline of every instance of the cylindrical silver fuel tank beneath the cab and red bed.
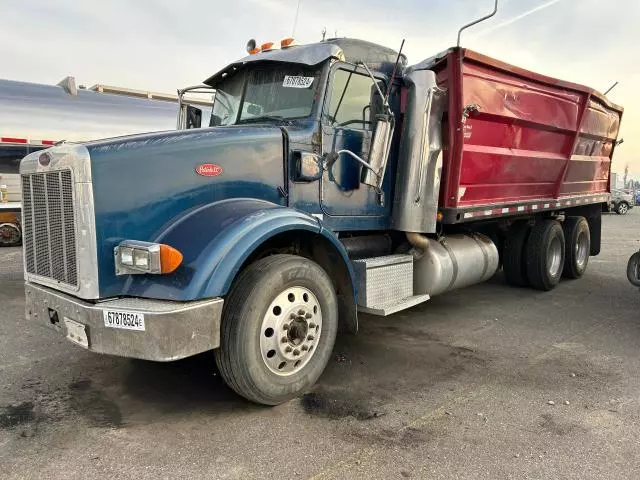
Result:
{"label": "cylindrical silver fuel tank beneath the cab and red bed", "polygon": [[484,282],[498,270],[498,249],[479,233],[450,235],[433,240],[415,255],[414,295],[430,296]]}

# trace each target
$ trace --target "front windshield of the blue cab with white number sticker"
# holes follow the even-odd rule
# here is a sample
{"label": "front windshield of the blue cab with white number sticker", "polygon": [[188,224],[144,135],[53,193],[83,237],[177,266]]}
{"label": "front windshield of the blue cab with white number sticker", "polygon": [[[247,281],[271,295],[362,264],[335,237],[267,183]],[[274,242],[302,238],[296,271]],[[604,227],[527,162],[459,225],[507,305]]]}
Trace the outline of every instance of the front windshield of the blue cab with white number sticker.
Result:
{"label": "front windshield of the blue cab with white number sticker", "polygon": [[320,69],[271,64],[244,70],[216,86],[211,126],[308,117]]}

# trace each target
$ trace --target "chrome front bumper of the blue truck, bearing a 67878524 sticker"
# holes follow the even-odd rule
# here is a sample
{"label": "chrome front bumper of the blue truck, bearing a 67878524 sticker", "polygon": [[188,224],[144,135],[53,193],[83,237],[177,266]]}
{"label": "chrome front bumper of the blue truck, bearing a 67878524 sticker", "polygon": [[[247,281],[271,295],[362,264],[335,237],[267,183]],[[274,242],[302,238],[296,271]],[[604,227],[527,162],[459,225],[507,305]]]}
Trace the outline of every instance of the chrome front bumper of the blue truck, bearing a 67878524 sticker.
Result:
{"label": "chrome front bumper of the blue truck, bearing a 67878524 sticker", "polygon": [[[120,298],[90,303],[30,282],[25,283],[25,298],[27,319],[92,352],[167,362],[220,345],[221,298],[193,302]],[[105,310],[143,314],[145,330],[107,327]],[[78,337],[67,331],[66,320],[83,325],[86,339],[74,341]]]}

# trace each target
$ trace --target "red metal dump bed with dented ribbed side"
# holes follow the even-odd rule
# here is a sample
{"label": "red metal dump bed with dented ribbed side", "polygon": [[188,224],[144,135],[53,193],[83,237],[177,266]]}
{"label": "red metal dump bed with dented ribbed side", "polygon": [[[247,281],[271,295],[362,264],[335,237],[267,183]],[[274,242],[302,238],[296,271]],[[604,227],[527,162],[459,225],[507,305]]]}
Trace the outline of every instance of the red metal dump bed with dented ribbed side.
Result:
{"label": "red metal dump bed with dented ribbed side", "polygon": [[622,107],[467,49],[449,50],[430,68],[449,94],[445,222],[608,200]]}

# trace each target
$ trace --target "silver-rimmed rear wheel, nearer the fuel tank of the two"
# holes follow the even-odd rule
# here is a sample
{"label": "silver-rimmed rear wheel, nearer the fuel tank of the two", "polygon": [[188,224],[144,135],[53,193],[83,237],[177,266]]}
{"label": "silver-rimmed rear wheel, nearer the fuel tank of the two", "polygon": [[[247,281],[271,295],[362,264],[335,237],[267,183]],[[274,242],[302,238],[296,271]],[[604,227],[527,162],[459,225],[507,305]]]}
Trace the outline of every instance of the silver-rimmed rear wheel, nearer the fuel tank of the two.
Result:
{"label": "silver-rimmed rear wheel, nearer the fuel tank of the two", "polygon": [[556,220],[542,220],[531,228],[527,240],[527,277],[537,290],[553,289],[564,266],[564,233]]}

